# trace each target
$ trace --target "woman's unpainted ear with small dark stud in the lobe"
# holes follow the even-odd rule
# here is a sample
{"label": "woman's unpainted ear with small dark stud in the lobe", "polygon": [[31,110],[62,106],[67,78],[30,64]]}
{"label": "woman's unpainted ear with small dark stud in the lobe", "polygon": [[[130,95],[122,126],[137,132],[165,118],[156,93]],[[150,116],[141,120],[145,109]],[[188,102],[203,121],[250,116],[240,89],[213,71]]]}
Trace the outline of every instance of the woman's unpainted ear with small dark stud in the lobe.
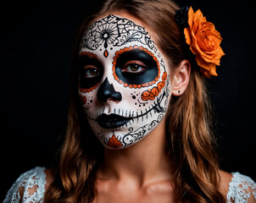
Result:
{"label": "woman's unpainted ear with small dark stud in the lobe", "polygon": [[184,91],[186,91],[186,86],[190,78],[190,71],[191,63],[186,59],[181,61],[180,66],[175,69],[172,95],[181,96]]}

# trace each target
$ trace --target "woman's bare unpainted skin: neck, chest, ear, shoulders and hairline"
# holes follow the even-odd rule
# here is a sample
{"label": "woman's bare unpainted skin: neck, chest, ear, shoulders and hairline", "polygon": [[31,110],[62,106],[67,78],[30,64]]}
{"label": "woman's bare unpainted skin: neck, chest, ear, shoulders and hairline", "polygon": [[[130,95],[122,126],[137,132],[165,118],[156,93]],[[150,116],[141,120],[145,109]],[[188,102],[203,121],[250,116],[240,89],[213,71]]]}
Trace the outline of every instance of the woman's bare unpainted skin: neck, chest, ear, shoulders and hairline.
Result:
{"label": "woman's bare unpainted skin: neck, chest, ear, shoulders and hairline", "polygon": [[[131,19],[145,27],[151,36],[155,33],[129,14],[114,13]],[[179,96],[186,90],[189,81],[190,63],[182,61],[170,75],[170,95]],[[166,69],[170,69],[166,64]],[[109,102],[118,102],[109,100]],[[127,148],[105,148],[104,162],[97,172],[97,198],[93,202],[176,202],[169,160],[164,154],[165,117],[142,140]],[[47,174],[47,186],[53,181],[51,169]],[[231,174],[220,171],[220,191],[225,196]]]}

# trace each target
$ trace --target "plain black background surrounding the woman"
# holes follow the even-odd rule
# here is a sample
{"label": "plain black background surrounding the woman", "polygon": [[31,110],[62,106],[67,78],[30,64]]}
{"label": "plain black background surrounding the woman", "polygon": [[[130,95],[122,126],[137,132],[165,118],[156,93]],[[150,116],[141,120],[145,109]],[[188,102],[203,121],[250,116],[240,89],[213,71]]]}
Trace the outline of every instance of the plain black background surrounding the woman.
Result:
{"label": "plain black background surrounding the woman", "polygon": [[[0,200],[20,173],[55,162],[67,120],[75,30],[95,3],[9,1],[1,7]],[[255,3],[190,4],[224,38],[219,76],[208,80],[220,167],[256,180]]]}

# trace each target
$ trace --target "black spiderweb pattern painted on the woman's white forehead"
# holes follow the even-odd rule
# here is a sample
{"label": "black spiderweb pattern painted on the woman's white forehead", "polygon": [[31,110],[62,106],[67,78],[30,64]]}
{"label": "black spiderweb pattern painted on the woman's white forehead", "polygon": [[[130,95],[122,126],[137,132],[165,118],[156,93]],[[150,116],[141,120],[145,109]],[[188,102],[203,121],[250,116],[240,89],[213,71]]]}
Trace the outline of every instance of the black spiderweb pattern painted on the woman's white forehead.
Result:
{"label": "black spiderweb pattern painted on the woman's white forehead", "polygon": [[80,49],[96,50],[103,45],[104,56],[107,58],[110,46],[120,47],[132,41],[139,41],[143,45],[147,45],[153,52],[157,52],[157,48],[145,28],[136,25],[130,19],[110,14],[97,20],[86,30],[81,39]]}

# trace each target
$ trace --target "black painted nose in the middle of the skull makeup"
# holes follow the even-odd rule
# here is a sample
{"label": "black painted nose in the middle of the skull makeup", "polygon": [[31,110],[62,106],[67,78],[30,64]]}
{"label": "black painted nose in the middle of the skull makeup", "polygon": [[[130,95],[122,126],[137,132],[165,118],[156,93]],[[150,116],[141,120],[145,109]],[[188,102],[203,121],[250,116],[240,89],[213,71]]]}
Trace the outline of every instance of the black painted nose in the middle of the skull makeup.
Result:
{"label": "black painted nose in the middle of the skull makeup", "polygon": [[122,95],[119,91],[114,90],[113,84],[109,84],[109,80],[107,77],[97,91],[97,99],[101,102],[107,102],[108,99],[120,102],[122,100]]}

